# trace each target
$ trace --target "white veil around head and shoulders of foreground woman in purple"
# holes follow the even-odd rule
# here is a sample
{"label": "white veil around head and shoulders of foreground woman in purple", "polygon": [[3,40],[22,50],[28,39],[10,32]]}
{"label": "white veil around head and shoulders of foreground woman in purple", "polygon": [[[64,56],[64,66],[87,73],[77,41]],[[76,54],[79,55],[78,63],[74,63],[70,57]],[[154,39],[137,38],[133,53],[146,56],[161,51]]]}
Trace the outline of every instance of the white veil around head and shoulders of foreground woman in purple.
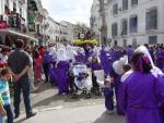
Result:
{"label": "white veil around head and shoulders of foreground woman in purple", "polygon": [[[156,74],[156,75],[164,75],[164,73],[163,73],[157,66],[155,66],[155,64],[154,64],[154,62],[153,62],[153,60],[152,60],[152,57],[151,57],[149,50],[145,48],[145,46],[140,46],[140,47],[138,47],[138,48],[134,50],[134,52],[143,52],[144,56],[147,56],[147,57],[150,59],[150,61],[151,61],[151,64],[152,64],[152,66],[153,66],[152,72],[153,72],[154,74]],[[127,73],[125,73],[125,74],[122,75],[122,77],[121,77],[121,82],[124,83],[124,82],[126,81],[126,78],[128,78],[128,76],[129,76],[131,73],[132,73],[132,70],[130,70],[130,71],[128,71]]]}

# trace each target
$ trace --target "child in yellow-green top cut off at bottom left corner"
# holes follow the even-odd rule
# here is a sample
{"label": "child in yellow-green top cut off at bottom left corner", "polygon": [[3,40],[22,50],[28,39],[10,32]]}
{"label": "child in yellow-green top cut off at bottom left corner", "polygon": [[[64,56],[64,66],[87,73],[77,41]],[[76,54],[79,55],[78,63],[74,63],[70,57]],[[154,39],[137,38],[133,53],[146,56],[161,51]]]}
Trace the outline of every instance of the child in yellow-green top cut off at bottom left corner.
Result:
{"label": "child in yellow-green top cut off at bottom left corner", "polygon": [[3,108],[3,100],[2,97],[0,96],[0,123],[4,123],[4,116],[5,116],[5,110]]}

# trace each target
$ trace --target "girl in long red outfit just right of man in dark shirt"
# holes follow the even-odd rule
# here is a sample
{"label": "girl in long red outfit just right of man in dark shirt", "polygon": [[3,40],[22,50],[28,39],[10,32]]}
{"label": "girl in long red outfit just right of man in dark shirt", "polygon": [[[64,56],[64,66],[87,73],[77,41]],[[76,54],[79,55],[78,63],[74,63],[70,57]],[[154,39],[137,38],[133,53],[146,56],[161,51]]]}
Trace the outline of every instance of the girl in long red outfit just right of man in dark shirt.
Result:
{"label": "girl in long red outfit just right of man in dark shirt", "polygon": [[42,64],[43,64],[43,59],[42,56],[39,54],[38,51],[35,52],[34,54],[34,59],[35,59],[35,65],[34,65],[34,70],[35,70],[35,79],[37,82],[42,81]]}

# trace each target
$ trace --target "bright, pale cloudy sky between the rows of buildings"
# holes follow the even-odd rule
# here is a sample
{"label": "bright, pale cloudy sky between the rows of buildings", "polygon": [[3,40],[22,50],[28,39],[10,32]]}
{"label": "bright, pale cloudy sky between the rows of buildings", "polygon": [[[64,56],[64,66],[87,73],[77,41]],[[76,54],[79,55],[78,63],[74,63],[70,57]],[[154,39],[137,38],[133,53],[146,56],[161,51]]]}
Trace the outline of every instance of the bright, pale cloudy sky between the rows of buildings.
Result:
{"label": "bright, pale cloudy sky between the rows of buildings", "polygon": [[90,25],[90,13],[93,0],[42,0],[55,21],[80,22]]}

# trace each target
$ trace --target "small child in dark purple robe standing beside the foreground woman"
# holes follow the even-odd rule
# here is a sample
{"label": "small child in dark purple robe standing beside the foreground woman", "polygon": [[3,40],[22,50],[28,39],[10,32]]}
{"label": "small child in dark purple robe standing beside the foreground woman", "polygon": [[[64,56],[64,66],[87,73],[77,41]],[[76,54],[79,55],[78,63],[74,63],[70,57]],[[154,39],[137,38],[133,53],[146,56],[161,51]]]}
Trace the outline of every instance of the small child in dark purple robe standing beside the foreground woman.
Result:
{"label": "small child in dark purple robe standing beside the foreground woman", "polygon": [[114,90],[110,87],[110,81],[105,79],[105,88],[104,88],[104,96],[105,96],[105,107],[106,107],[106,112],[108,114],[114,113]]}

